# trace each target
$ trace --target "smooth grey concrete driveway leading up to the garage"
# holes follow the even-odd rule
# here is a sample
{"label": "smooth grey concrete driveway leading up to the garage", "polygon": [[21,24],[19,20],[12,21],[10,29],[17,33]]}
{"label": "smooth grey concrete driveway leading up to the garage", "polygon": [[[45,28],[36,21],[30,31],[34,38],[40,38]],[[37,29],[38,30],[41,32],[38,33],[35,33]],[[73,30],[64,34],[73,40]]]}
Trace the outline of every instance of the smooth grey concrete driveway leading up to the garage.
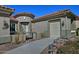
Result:
{"label": "smooth grey concrete driveway leading up to the garage", "polygon": [[52,44],[54,39],[45,38],[36,40],[21,47],[7,51],[6,54],[40,54],[49,44]]}

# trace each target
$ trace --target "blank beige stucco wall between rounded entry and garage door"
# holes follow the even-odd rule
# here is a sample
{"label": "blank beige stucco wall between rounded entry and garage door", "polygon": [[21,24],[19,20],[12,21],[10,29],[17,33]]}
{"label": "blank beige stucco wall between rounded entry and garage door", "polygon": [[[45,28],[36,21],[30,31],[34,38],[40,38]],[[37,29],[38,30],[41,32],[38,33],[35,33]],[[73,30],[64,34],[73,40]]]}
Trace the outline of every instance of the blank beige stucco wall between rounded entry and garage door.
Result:
{"label": "blank beige stucco wall between rounded entry and garage door", "polygon": [[38,33],[48,31],[48,21],[32,23],[32,29],[32,31],[36,31]]}

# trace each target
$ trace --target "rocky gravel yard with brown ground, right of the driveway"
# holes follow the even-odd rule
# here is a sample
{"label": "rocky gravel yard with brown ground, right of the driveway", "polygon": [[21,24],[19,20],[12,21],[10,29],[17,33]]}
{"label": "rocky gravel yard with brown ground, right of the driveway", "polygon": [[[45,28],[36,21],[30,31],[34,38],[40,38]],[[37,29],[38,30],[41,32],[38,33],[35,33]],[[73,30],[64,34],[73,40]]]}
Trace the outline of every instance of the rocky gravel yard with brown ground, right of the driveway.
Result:
{"label": "rocky gravel yard with brown ground, right of the driveway", "polygon": [[55,40],[42,54],[79,54],[79,37]]}

